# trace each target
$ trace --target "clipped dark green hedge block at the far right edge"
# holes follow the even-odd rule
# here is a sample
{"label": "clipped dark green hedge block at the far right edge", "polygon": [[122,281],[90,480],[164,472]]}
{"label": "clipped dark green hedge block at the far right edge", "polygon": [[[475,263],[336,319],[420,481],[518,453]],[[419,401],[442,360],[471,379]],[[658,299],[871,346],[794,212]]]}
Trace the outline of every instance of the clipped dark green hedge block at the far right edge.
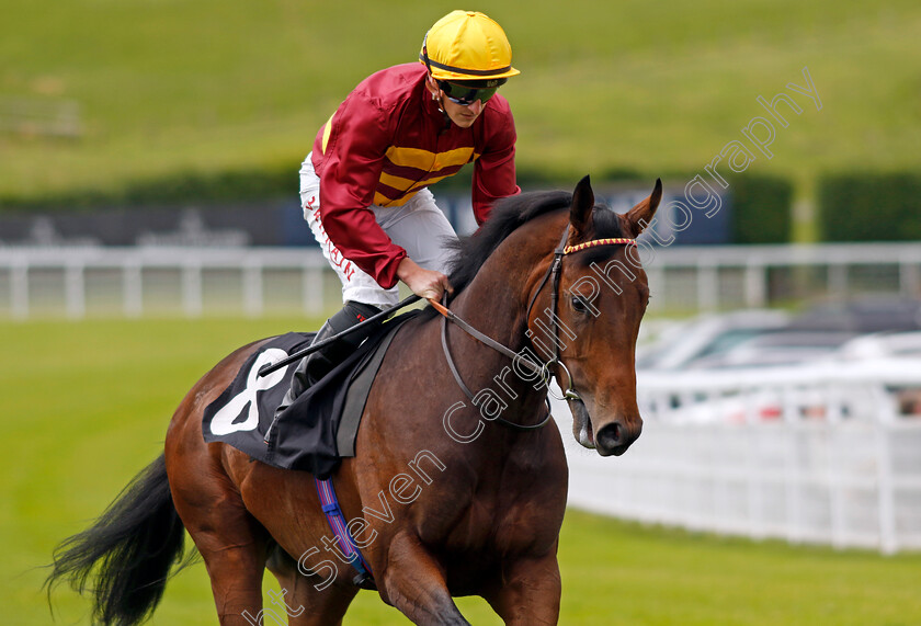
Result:
{"label": "clipped dark green hedge block at the far right edge", "polygon": [[826,174],[817,200],[826,241],[921,239],[921,173]]}

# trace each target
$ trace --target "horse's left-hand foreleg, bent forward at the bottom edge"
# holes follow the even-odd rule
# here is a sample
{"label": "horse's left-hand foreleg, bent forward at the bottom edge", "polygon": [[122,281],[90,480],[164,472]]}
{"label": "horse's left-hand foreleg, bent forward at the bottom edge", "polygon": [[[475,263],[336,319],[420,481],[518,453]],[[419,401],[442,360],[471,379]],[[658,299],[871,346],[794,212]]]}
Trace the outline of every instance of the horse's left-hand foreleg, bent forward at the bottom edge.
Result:
{"label": "horse's left-hand foreleg, bent forward at the bottom edge", "polygon": [[419,539],[399,534],[388,547],[387,567],[375,572],[380,596],[414,624],[467,625],[451,599],[444,571]]}

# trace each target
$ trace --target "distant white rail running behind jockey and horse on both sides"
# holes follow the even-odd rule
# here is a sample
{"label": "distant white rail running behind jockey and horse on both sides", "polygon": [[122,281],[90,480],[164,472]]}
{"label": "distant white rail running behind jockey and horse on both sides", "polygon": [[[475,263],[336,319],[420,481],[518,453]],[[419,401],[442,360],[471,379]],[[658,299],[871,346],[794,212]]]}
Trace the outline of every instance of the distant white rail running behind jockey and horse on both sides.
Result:
{"label": "distant white rail running behind jockey and horse on both sides", "polygon": [[[921,294],[921,243],[673,246],[647,255],[646,269],[653,312],[763,307],[859,291]],[[117,284],[112,273],[121,276]],[[285,273],[299,275],[299,283],[273,291]],[[16,319],[93,315],[100,291],[126,316],[168,306],[189,316],[211,315],[230,304],[255,316],[288,301],[294,292],[298,306],[315,312],[328,301],[326,283],[328,291],[337,288],[316,249],[0,247],[0,317]],[[219,306],[212,301],[215,293],[223,294]],[[111,301],[105,312],[113,312]]]}

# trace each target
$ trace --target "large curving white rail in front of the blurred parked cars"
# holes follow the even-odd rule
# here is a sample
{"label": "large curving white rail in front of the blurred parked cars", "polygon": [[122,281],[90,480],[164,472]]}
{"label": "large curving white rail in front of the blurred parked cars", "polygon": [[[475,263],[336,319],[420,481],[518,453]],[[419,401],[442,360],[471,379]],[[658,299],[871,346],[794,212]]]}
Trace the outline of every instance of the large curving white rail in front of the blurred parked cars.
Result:
{"label": "large curving white rail in front of the blurred parked cars", "polygon": [[570,503],[752,538],[921,549],[921,417],[899,414],[899,389],[921,390],[921,363],[640,373],[644,431],[619,458],[579,447],[554,407]]}

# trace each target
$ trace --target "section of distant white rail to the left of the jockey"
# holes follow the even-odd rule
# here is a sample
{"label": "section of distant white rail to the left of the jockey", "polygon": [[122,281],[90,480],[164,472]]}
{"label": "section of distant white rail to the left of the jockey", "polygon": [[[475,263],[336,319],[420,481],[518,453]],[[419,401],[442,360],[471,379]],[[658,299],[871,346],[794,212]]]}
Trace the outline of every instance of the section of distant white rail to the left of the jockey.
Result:
{"label": "section of distant white rail to the left of the jockey", "polygon": [[[15,319],[36,308],[84,317],[91,292],[107,295],[103,310],[112,312],[114,299],[127,317],[177,308],[190,317],[228,308],[259,316],[273,308],[273,297],[318,314],[327,303],[323,277],[331,275],[319,250],[287,248],[0,248],[0,289],[4,271],[7,309]],[[286,284],[268,293],[268,278],[281,275]],[[93,277],[100,283],[94,289]],[[208,292],[218,294],[218,304],[205,306]]]}

